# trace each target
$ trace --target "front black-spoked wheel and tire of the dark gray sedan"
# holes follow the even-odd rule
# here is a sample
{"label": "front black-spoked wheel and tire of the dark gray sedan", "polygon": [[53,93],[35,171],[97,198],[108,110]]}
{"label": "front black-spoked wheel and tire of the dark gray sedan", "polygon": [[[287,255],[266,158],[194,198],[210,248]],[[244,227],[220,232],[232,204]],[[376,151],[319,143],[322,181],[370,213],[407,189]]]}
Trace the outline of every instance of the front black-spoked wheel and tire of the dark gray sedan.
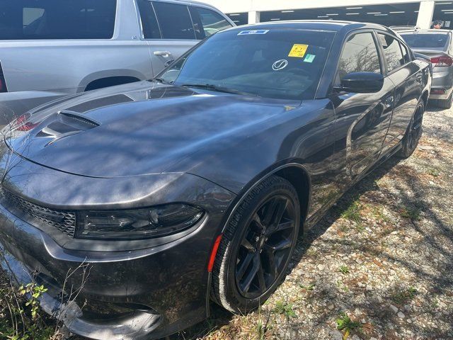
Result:
{"label": "front black-spoked wheel and tire of the dark gray sedan", "polygon": [[226,227],[212,271],[213,300],[247,313],[274,293],[285,277],[299,234],[300,204],[287,180],[258,184]]}

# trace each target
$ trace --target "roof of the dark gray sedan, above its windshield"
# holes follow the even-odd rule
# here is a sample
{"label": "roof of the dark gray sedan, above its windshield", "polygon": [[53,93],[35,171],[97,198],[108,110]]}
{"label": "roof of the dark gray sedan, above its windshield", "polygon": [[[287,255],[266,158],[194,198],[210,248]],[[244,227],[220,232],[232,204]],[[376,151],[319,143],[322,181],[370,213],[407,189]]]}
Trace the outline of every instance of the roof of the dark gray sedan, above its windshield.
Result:
{"label": "roof of the dark gray sedan, above its windshield", "polygon": [[265,23],[254,23],[251,25],[243,25],[228,30],[265,30],[270,28],[294,28],[294,29],[310,29],[310,30],[355,30],[357,28],[372,28],[384,30],[389,33],[394,33],[389,28],[379,25],[377,23],[358,23],[355,21],[336,21],[336,20],[294,20],[294,21],[270,21]]}

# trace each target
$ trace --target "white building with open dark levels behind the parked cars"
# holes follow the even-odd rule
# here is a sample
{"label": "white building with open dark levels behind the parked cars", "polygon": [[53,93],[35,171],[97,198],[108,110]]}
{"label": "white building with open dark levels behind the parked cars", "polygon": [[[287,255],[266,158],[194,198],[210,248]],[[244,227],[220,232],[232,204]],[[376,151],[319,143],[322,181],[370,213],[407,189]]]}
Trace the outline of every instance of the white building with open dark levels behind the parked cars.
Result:
{"label": "white building with open dark levels behind the parked cars", "polygon": [[453,29],[453,0],[200,0],[227,13],[237,25],[264,21],[324,19],[367,21],[385,26]]}

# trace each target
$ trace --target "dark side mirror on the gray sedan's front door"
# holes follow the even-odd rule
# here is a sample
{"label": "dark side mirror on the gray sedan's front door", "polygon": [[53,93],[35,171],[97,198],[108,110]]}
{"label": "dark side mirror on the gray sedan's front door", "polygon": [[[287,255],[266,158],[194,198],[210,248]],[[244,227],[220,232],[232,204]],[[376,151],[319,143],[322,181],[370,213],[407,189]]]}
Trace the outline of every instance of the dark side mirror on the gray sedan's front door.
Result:
{"label": "dark side mirror on the gray sedan's front door", "polygon": [[341,79],[337,91],[371,94],[379,92],[384,86],[384,76],[373,72],[352,72]]}

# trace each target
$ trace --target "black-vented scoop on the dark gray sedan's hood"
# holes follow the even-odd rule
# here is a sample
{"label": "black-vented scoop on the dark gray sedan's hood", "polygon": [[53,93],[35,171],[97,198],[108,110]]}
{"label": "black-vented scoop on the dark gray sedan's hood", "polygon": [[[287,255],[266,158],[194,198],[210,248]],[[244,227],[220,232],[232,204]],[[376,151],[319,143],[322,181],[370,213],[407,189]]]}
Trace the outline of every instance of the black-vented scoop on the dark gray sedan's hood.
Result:
{"label": "black-vented scoop on the dark gray sedan's hood", "polygon": [[97,128],[100,125],[74,111],[60,111],[52,118],[50,121],[45,120],[47,124],[36,134],[36,137],[52,138],[52,141],[47,145],[64,137]]}

